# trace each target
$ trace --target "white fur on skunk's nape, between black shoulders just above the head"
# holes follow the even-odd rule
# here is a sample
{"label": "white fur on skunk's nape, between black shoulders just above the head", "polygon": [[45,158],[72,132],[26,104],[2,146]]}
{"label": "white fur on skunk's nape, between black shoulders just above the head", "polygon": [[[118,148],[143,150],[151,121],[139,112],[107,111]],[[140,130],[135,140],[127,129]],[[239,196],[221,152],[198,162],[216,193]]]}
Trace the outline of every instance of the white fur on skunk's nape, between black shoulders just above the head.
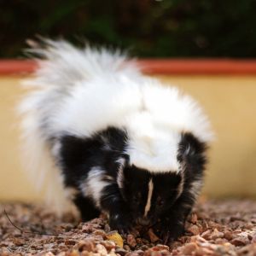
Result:
{"label": "white fur on skunk's nape, between black shoulders just above the head", "polygon": [[127,126],[130,141],[126,153],[131,165],[149,172],[179,172],[177,150],[181,136],[177,131],[162,129],[149,113],[131,116]]}

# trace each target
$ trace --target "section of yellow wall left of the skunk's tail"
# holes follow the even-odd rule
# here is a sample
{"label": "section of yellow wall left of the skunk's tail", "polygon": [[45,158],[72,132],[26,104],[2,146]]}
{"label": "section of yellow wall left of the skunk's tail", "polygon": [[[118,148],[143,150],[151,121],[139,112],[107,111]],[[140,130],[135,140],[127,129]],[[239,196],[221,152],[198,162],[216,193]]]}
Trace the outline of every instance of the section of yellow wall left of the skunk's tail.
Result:
{"label": "section of yellow wall left of the skunk's tail", "polygon": [[0,200],[38,198],[22,172],[15,104],[19,102],[20,78],[0,77]]}

